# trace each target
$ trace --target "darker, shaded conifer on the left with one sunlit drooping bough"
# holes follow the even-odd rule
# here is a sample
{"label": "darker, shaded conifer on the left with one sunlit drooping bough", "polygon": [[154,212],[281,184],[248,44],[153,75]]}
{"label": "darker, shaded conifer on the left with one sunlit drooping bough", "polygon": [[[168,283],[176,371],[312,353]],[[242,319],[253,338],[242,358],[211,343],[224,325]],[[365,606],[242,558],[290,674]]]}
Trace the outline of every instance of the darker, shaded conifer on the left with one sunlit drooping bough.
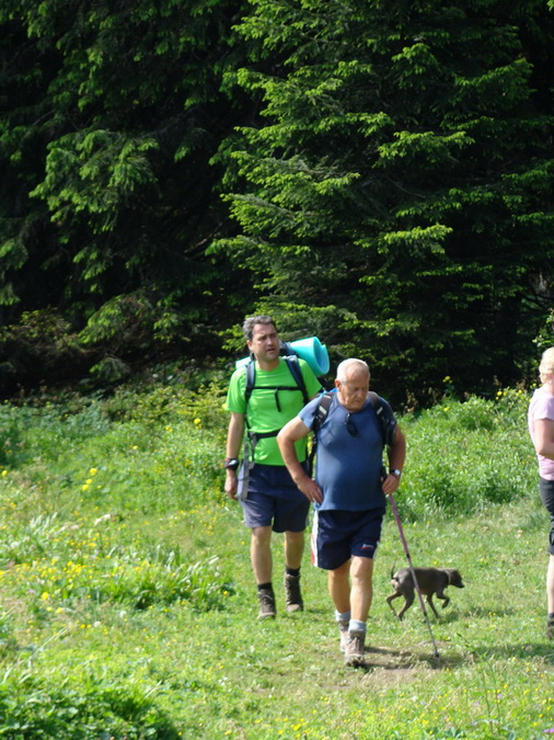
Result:
{"label": "darker, shaded conifer on the left with one sunlit drooping bough", "polygon": [[227,310],[210,158],[250,115],[221,92],[242,4],[0,0],[4,326],[55,310],[140,354]]}

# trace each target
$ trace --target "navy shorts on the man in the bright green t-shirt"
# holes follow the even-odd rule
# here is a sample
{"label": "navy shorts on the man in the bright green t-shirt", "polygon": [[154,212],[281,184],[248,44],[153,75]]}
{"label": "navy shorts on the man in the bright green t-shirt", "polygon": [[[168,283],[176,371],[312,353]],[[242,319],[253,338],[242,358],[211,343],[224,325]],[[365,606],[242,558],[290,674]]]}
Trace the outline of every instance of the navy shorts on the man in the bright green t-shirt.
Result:
{"label": "navy shorts on the man in the bright green t-shirt", "polygon": [[303,532],[310,512],[309,499],[282,465],[254,465],[241,504],[247,527],[272,526],[274,532]]}

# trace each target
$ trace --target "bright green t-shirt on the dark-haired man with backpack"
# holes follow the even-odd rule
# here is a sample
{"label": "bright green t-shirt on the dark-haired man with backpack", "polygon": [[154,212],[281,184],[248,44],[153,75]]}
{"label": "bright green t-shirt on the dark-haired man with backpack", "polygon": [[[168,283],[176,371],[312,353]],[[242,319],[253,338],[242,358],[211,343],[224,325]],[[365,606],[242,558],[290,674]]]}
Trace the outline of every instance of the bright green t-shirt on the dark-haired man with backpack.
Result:
{"label": "bright green t-shirt on the dark-haired man with backpack", "polygon": [[[310,365],[299,358],[300,371],[304,378],[308,398],[312,398],[321,390],[321,383],[313,374]],[[278,366],[273,371],[259,369],[256,362],[256,377],[254,389],[249,400],[247,429],[252,432],[273,432],[282,429],[293,419],[304,405],[301,390],[279,390],[279,408],[277,406],[275,386],[295,387],[286,361],[280,358]],[[246,411],[246,368],[239,367],[231,376],[227,394],[226,408],[228,411],[244,413]],[[307,456],[305,440],[297,442],[298,459],[302,463]],[[259,440],[254,451],[254,460],[264,465],[284,465],[282,457],[275,436]]]}

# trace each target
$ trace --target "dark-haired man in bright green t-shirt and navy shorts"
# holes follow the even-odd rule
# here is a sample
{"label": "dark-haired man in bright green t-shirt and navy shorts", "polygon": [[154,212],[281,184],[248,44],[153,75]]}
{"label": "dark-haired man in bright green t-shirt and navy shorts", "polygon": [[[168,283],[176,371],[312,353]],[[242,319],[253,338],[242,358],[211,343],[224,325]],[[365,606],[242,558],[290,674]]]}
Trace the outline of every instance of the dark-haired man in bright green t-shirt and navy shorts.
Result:
{"label": "dark-haired man in bright green t-shirt and navy shorts", "polygon": [[[254,316],[246,319],[243,331],[255,362],[255,378],[250,398],[246,398],[246,368],[238,368],[229,385],[226,407],[231,412],[231,419],[227,437],[226,492],[231,499],[240,499],[244,523],[252,533],[251,560],[258,591],[258,616],[266,618],[276,615],[272,584],[272,531],[285,533],[287,612],[303,608],[300,567],[310,501],[292,481],[276,437],[279,430],[302,409],[304,396],[289,363],[280,355],[275,321],[269,316]],[[321,384],[308,363],[299,358],[298,365],[307,398],[314,398],[321,390]],[[253,447],[253,466],[243,460],[241,477],[244,473],[249,475],[244,486],[246,490],[242,493],[239,491],[238,468],[245,434]],[[305,440],[298,443],[297,454],[300,463],[305,465]]]}

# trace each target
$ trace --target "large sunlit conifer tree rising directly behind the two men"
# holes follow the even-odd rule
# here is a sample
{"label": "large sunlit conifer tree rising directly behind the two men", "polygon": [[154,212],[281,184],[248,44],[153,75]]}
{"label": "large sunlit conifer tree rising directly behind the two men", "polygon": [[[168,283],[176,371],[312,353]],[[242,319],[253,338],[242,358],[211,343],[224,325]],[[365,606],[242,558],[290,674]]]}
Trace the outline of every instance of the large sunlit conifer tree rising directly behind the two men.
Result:
{"label": "large sunlit conifer tree rising directly behind the two men", "polygon": [[545,3],[252,5],[235,82],[264,121],[232,149],[219,247],[399,396],[518,377],[554,257]]}

